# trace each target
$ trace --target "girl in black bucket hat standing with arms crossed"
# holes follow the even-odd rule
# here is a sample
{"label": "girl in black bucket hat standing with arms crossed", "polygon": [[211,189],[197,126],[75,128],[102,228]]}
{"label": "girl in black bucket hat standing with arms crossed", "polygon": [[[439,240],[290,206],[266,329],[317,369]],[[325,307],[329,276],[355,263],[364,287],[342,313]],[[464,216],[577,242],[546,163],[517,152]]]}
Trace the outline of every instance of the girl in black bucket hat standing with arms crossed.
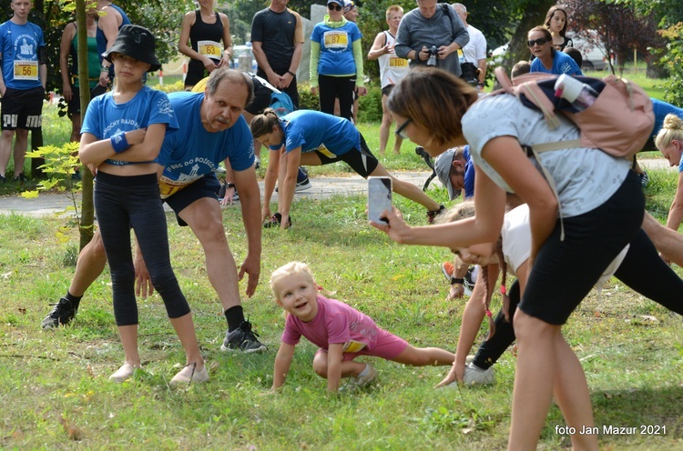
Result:
{"label": "girl in black bucket hat standing with arms crossed", "polygon": [[[171,384],[204,382],[209,374],[199,351],[188,301],[178,286],[168,255],[166,216],[161,205],[156,159],[167,130],[178,121],[166,94],[143,85],[142,76],[158,70],[155,40],[148,29],[125,25],[103,54],[114,65],[113,91],[87,107],[81,161],[96,175],[95,208],[111,270],[114,316],[125,362],[110,380],[123,382],[140,367],[135,267],[130,227],[135,231],[152,284],[187,355],[187,366]],[[138,261],[140,261],[138,259]]]}

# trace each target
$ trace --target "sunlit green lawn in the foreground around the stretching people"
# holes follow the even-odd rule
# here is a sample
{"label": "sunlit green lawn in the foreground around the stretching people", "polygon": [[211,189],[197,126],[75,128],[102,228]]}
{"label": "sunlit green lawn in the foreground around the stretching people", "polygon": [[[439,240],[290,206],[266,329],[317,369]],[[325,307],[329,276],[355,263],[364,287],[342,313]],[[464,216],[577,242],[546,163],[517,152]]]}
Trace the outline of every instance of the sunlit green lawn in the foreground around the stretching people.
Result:
{"label": "sunlit green lawn in the foreground around the stretching people", "polygon": [[[652,171],[648,206],[664,211],[674,171]],[[443,190],[434,191],[444,202]],[[315,348],[298,346],[282,392],[268,396],[282,332],[281,309],[268,288],[270,272],[291,260],[311,265],[331,296],[372,316],[415,346],[454,351],[464,302],[445,302],[439,265],[445,249],[399,246],[367,226],[363,196],[293,206],[295,228],[265,230],[260,286],[244,301],[246,314],[270,346],[258,356],[219,352],[225,331],[197,239],[168,216],[174,269],[192,306],[210,381],[187,390],[168,387],[184,361],[158,296],[139,302],[143,370],[115,385],[107,376],[122,350],[111,309],[109,276],[88,291],[76,324],[43,332],[48,303],[63,296],[74,272],[71,244],[60,244],[54,219],[0,216],[0,448],[4,449],[463,449],[505,447],[514,378],[514,348],[496,365],[496,385],[435,390],[447,367],[412,368],[372,359],[380,376],[368,392],[330,396],[311,369]],[[423,208],[402,198],[413,224]],[[658,215],[661,219],[661,215]],[[238,262],[245,256],[240,210],[224,211]],[[577,269],[579,270],[579,269]],[[680,270],[677,268],[678,273]],[[571,276],[571,275],[567,275]],[[242,290],[244,285],[241,285]],[[497,303],[498,300],[495,300]],[[449,309],[454,314],[449,315]],[[643,325],[641,316],[659,323]],[[583,360],[598,426],[667,426],[666,436],[601,436],[605,449],[677,449],[683,441],[683,322],[614,279],[591,293],[565,327]],[[480,332],[480,340],[485,327]],[[304,340],[305,341],[305,340]],[[65,426],[66,425],[66,426]],[[565,449],[554,406],[540,449]],[[77,441],[77,443],[76,443]]]}

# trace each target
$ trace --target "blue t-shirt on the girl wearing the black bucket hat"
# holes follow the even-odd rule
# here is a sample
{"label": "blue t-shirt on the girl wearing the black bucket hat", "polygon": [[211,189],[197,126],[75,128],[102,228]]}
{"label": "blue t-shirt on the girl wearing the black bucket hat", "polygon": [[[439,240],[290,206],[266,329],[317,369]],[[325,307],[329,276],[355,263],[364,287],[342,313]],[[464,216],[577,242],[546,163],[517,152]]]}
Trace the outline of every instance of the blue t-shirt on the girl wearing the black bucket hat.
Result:
{"label": "blue t-shirt on the girl wearing the black bucket hat", "polygon": [[[110,138],[119,132],[130,132],[153,124],[166,124],[166,131],[178,129],[178,121],[166,93],[143,86],[125,104],[114,102],[111,92],[97,95],[87,105],[81,133],[94,135],[97,140]],[[125,156],[126,154],[121,154]],[[154,161],[158,161],[155,159]],[[107,160],[109,165],[131,165],[153,162]]]}

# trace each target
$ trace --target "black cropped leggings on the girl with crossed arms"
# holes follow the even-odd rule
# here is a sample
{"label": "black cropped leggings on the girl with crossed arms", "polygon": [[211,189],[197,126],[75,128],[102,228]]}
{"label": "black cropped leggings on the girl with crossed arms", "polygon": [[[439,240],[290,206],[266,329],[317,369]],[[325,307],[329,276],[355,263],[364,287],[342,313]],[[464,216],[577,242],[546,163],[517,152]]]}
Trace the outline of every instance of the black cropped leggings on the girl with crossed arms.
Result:
{"label": "black cropped leggings on the girl with crossed arms", "polygon": [[189,314],[188,301],[170,266],[166,215],[159,197],[157,174],[119,176],[100,172],[94,201],[111,272],[117,326],[138,324],[131,226],[138,238],[149,278],[164,301],[168,317]]}

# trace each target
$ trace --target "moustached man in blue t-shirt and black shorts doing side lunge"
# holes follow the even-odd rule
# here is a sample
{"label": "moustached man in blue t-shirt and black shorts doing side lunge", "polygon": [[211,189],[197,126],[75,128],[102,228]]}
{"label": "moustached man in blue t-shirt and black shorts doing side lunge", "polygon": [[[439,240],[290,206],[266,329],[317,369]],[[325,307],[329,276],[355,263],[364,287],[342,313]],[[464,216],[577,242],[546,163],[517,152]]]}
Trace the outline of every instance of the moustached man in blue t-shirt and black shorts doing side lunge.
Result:
{"label": "moustached man in blue t-shirt and black shorts doing side lunge", "polygon": [[[248,353],[266,349],[244,318],[238,286],[247,274],[246,293],[253,296],[260,276],[260,189],[251,133],[241,115],[252,96],[250,77],[227,67],[211,73],[203,94],[168,95],[180,128],[166,134],[158,155],[160,195],[176,212],[178,224],[189,226],[204,248],[209,281],[228,321],[228,331],[220,348]],[[220,184],[214,169],[221,161],[232,168],[229,185],[240,190],[249,250],[239,274],[218,203]],[[104,270],[106,262],[102,241],[96,234],[78,256],[71,286],[43,320],[44,328],[67,324],[76,316],[81,297]],[[147,269],[139,252],[136,252],[136,276],[138,292],[142,296],[151,294]]]}

